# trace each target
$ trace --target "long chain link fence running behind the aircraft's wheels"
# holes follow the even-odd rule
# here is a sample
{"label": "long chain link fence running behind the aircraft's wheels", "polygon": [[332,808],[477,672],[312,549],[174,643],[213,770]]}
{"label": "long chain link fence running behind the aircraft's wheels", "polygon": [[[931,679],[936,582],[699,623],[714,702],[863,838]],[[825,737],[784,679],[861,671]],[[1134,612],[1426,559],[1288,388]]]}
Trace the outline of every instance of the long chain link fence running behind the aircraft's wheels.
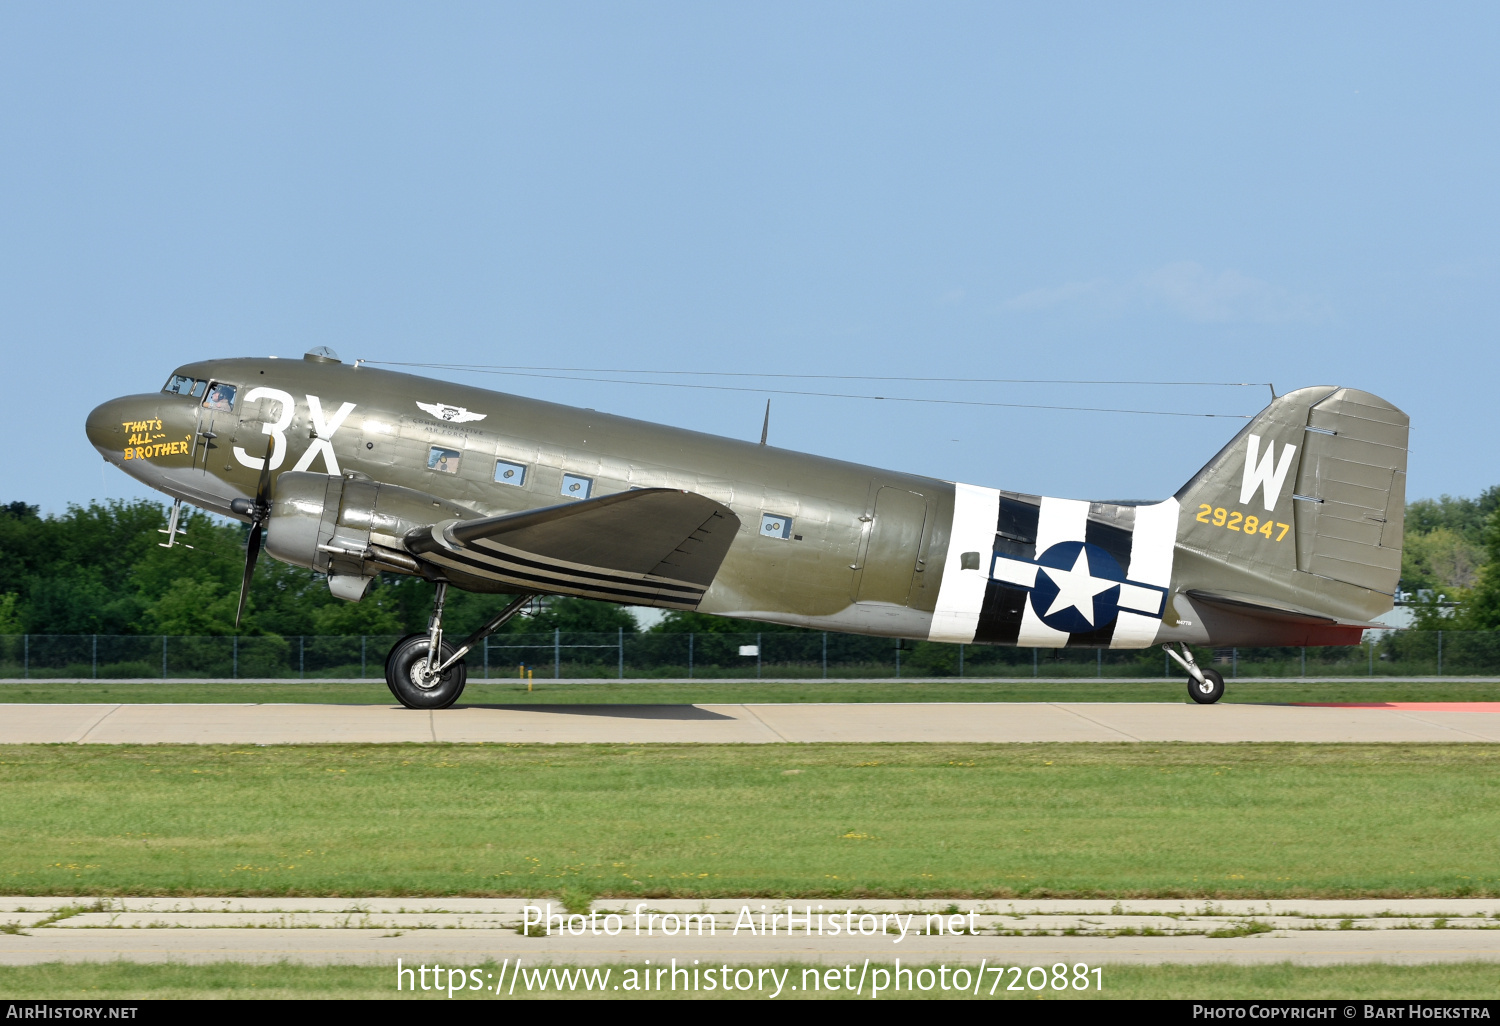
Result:
{"label": "long chain link fence running behind the aircraft's wheels", "polygon": [[[386,636],[3,634],[0,678],[381,678]],[[1234,676],[1500,675],[1500,632],[1390,632],[1340,648],[1198,648]],[[1184,676],[1160,648],[1002,648],[819,632],[495,634],[470,680]]]}

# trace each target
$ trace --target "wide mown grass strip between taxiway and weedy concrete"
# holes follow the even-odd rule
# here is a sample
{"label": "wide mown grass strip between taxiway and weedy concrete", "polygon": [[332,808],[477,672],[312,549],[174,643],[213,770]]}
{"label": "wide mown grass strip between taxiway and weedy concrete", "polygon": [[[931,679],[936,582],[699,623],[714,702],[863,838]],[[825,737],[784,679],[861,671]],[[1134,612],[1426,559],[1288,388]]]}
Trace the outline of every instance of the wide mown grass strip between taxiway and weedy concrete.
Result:
{"label": "wide mown grass strip between taxiway and weedy concrete", "polygon": [[0,892],[1496,896],[1497,770],[1479,744],[4,746]]}

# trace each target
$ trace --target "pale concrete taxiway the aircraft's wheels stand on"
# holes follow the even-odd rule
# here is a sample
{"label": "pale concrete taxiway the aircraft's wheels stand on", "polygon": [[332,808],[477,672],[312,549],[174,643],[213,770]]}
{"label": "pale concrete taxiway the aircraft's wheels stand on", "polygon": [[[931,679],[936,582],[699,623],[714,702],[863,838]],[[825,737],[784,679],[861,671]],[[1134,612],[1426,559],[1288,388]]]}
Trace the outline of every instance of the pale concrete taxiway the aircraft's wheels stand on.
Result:
{"label": "pale concrete taxiway the aircraft's wheels stand on", "polygon": [[0,744],[1497,742],[1500,712],[1152,702],[0,705]]}

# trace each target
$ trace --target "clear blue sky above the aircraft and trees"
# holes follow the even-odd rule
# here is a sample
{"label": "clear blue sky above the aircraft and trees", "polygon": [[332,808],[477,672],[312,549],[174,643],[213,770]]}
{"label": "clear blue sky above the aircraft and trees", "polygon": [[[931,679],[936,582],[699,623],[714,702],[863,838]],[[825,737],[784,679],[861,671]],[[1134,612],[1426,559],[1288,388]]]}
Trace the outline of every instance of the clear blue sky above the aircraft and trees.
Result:
{"label": "clear blue sky above the aircraft and trees", "polygon": [[[1412,414],[1410,495],[1472,495],[1500,480],[1496,52],[1500,8],[1461,3],[4,4],[0,501],[141,494],[93,405],[312,345],[1347,384]],[[465,380],[741,438],[764,410]],[[780,396],[771,441],[1158,498],[1239,423]]]}

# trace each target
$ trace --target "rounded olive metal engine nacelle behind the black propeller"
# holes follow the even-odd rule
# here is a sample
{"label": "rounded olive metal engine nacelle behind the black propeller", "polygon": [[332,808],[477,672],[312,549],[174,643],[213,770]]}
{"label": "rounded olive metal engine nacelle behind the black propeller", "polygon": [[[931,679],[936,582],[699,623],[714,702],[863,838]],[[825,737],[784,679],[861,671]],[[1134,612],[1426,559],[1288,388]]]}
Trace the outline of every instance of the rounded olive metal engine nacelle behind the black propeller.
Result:
{"label": "rounded olive metal engine nacelle behind the black propeller", "polygon": [[328,574],[336,597],[358,602],[381,570],[418,573],[417,561],[402,548],[406,531],[474,516],[426,492],[360,474],[286,471],[276,478],[266,552]]}

